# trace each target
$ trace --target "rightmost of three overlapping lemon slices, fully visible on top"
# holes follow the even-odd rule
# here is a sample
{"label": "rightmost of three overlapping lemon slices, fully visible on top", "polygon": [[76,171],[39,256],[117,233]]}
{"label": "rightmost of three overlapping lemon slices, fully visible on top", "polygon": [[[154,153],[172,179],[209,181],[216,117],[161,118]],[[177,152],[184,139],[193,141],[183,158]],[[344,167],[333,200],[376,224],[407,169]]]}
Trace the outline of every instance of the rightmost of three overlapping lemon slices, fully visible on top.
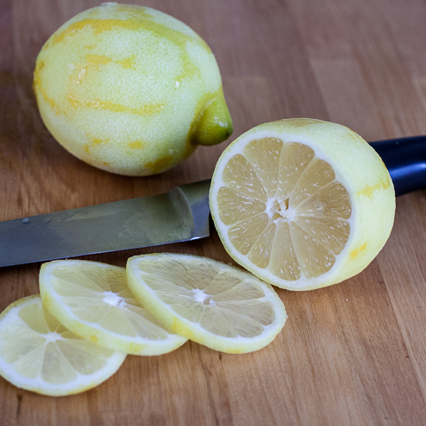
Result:
{"label": "rightmost of three overlapping lemon slices, fully visible on top", "polygon": [[271,286],[205,257],[134,256],[126,270],[134,295],[164,327],[217,351],[261,349],[287,319]]}

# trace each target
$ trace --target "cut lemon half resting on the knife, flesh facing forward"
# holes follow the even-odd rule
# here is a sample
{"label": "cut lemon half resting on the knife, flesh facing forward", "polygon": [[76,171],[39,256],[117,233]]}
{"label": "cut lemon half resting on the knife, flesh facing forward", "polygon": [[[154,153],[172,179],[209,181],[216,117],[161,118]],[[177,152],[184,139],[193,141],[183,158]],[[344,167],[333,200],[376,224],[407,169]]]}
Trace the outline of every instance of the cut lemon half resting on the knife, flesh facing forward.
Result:
{"label": "cut lemon half resting on the knife, flesh facing forward", "polygon": [[292,290],[361,272],[395,214],[392,181],[375,150],[342,125],[303,118],[235,139],[217,162],[209,203],[233,259]]}

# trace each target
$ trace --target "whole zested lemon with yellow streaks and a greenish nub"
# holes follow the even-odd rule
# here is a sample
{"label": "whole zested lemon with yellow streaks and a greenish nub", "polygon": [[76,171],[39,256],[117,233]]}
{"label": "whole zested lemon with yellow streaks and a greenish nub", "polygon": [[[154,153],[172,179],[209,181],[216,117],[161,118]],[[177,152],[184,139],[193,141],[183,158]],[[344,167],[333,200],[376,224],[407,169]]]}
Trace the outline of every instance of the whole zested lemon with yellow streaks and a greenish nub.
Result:
{"label": "whole zested lemon with yellow streaks and a greenish nub", "polygon": [[62,146],[123,175],[169,170],[233,130],[209,46],[149,7],[106,3],[68,20],[38,55],[34,89]]}

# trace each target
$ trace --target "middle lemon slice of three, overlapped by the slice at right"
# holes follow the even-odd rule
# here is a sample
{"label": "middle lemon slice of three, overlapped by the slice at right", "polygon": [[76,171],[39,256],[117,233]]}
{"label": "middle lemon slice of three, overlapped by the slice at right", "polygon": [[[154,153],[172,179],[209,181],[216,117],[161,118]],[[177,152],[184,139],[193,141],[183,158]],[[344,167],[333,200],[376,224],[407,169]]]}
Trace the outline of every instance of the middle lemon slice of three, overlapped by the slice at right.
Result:
{"label": "middle lemon slice of three, overlapped by the slice at right", "polygon": [[124,268],[83,260],[43,264],[44,306],[76,335],[115,351],[160,355],[186,342],[146,312],[127,286]]}

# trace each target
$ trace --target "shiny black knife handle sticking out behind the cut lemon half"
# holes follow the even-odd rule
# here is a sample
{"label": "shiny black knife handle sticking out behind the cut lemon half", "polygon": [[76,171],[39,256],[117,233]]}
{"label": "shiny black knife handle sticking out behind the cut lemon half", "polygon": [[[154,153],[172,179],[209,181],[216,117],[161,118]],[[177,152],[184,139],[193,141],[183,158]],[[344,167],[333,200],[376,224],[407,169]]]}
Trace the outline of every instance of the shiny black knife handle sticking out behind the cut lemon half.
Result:
{"label": "shiny black knife handle sticking out behind the cut lemon half", "polygon": [[370,145],[388,168],[397,196],[426,189],[426,136],[380,140]]}

